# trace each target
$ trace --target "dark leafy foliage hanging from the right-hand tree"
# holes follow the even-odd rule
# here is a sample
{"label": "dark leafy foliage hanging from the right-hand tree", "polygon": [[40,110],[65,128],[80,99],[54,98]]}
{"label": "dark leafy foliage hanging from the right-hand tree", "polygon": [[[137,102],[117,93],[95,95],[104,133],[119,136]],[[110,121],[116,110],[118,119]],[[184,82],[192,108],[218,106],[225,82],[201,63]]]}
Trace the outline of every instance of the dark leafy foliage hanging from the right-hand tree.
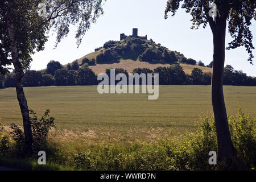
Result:
{"label": "dark leafy foliage hanging from the right-hand tree", "polygon": [[[214,31],[214,27],[217,26],[216,19],[213,20],[209,16],[211,7],[209,6],[214,2],[217,6],[216,19],[228,20],[228,30],[233,40],[229,43],[227,49],[234,49],[240,46],[244,46],[249,53],[249,59],[253,64],[253,35],[250,31],[251,20],[256,20],[256,1],[255,0],[168,0],[165,10],[165,18],[168,18],[168,13],[171,12],[172,16],[175,15],[180,4],[182,9],[185,9],[186,13],[192,16],[192,29],[199,28],[201,24],[205,28],[207,23]],[[217,22],[217,23],[216,23]]]}

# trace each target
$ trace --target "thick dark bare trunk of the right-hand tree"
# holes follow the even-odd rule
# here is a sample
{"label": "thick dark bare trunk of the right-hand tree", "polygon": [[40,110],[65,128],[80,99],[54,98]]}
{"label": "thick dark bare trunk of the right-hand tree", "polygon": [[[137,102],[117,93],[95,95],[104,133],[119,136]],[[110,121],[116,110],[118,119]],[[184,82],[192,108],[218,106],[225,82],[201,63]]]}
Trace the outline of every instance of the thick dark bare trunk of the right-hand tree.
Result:
{"label": "thick dark bare trunk of the right-hand tree", "polygon": [[[211,26],[212,28],[212,26]],[[225,63],[226,19],[217,18],[213,31],[212,106],[218,140],[218,160],[230,162],[236,155],[233,146],[223,94],[223,72]]]}

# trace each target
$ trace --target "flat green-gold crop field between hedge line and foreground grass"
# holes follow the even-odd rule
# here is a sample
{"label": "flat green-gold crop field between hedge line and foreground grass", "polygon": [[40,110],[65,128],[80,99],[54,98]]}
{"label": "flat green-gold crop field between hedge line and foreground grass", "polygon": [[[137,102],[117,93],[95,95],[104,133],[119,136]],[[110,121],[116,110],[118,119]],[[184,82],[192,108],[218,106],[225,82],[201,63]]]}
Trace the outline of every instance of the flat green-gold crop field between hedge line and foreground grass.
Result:
{"label": "flat green-gold crop field between hedge line and foreground grass", "polygon": [[[199,115],[212,114],[210,86],[159,87],[158,100],[148,94],[99,94],[97,86],[24,88],[28,106],[40,116],[46,109],[55,117],[56,129],[80,132],[92,140],[166,137],[194,131]],[[256,117],[256,87],[224,86],[228,114],[240,104]],[[15,89],[0,90],[0,122],[22,125]],[[65,131],[68,135],[68,131]]]}

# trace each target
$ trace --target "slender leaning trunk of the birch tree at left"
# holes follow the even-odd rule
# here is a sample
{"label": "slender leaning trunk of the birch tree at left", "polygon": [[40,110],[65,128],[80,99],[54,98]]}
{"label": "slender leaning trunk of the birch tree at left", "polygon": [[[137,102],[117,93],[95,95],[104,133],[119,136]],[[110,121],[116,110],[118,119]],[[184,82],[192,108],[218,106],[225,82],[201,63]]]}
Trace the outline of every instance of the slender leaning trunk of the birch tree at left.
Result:
{"label": "slender leaning trunk of the birch tree at left", "polygon": [[18,45],[15,40],[16,36],[14,31],[14,25],[10,19],[7,20],[7,25],[8,25],[9,38],[11,42],[11,45],[10,45],[11,56],[12,56],[12,61],[15,68],[15,75],[16,75],[16,95],[19,101],[19,107],[22,113],[22,118],[23,118],[23,128],[24,128],[27,152],[28,152],[28,155],[30,155],[32,152],[32,130],[31,130],[31,122],[29,118],[27,100],[23,92],[23,85],[22,85],[22,78],[24,73],[23,73],[22,65],[20,64],[20,61],[19,61],[19,52],[18,52]]}

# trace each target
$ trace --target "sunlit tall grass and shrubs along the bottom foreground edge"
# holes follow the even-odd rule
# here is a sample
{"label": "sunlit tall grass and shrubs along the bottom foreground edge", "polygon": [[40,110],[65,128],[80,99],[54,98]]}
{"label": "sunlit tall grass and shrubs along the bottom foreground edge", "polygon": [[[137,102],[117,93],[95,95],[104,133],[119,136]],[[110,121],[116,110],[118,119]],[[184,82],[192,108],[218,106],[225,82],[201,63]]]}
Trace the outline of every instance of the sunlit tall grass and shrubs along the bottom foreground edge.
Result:
{"label": "sunlit tall grass and shrubs along the bottom foreground edge", "polygon": [[[48,169],[55,170],[255,170],[256,158],[256,119],[243,114],[238,107],[237,115],[228,117],[230,133],[237,158],[232,165],[218,163],[209,165],[209,151],[217,151],[217,137],[213,117],[202,117],[196,124],[196,131],[184,133],[179,137],[170,135],[167,138],[138,140],[105,140],[102,142],[86,142],[83,135],[97,140],[94,131],[74,133],[57,130],[49,131],[47,145]],[[6,130],[7,131],[7,130]],[[0,144],[1,159],[5,162],[15,158],[13,150],[15,142],[5,128]],[[110,137],[111,138],[111,137]],[[13,155],[13,156],[10,156]],[[42,169],[35,167],[36,158],[20,159],[17,164],[26,161],[24,169]],[[14,161],[14,159],[12,159]],[[27,164],[31,162],[31,166]],[[1,162],[1,160],[0,160]],[[6,162],[8,164],[8,162]],[[9,163],[10,164],[10,163]],[[31,167],[27,167],[31,166]],[[45,167],[46,168],[46,167]],[[45,169],[43,168],[43,169]]]}

